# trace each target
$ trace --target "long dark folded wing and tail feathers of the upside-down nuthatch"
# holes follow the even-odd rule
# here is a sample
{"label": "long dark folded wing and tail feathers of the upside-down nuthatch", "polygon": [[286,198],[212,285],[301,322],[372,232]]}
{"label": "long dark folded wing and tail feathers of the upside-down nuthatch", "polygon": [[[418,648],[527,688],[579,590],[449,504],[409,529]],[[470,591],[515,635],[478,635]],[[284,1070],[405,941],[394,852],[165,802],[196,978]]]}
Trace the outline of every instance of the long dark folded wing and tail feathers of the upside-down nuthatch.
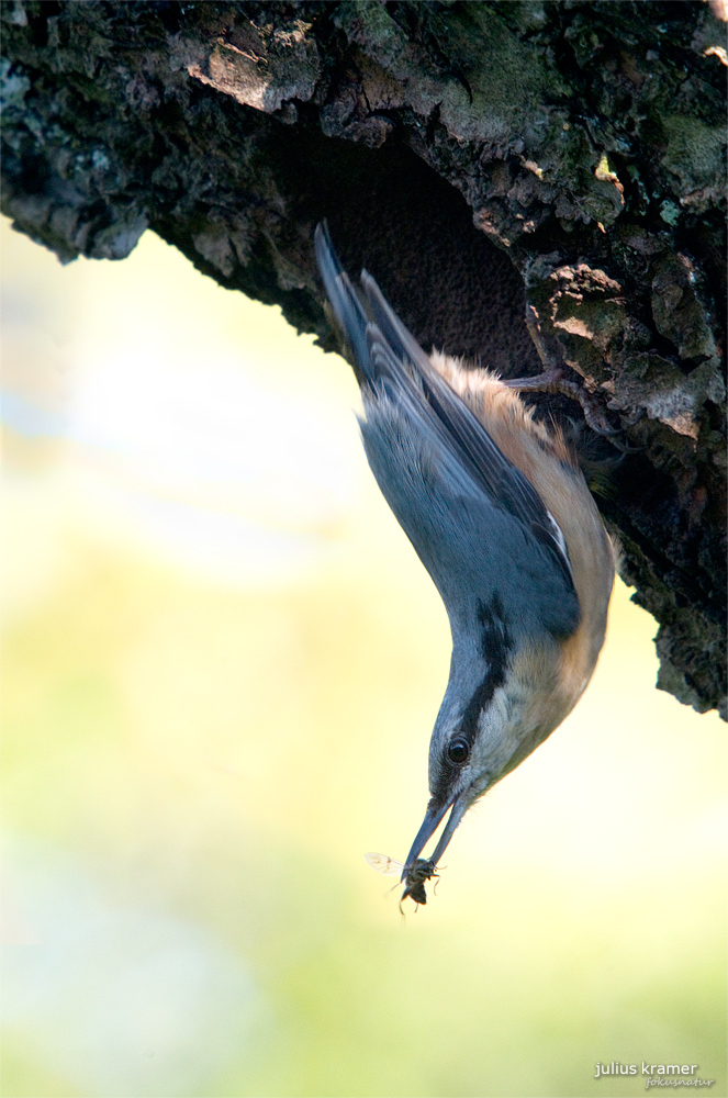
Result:
{"label": "long dark folded wing and tail feathers of the upside-down nuthatch", "polygon": [[374,279],[361,273],[365,302],[341,269],[325,225],[315,233],[316,257],[334,315],[348,339],[360,383],[401,402],[415,421],[426,421],[460,468],[493,505],[516,518],[548,551],[574,594],[571,563],[556,519],[536,489],[502,453],[468,405],[433,368],[396,316]]}

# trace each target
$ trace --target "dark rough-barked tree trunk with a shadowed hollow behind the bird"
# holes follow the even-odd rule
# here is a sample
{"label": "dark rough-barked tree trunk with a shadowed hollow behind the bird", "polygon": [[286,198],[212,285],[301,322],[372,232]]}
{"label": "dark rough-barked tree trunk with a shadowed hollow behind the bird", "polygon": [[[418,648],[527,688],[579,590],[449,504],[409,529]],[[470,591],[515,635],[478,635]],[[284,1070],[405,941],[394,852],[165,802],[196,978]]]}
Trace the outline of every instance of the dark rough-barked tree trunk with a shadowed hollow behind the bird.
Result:
{"label": "dark rough-barked tree trunk with a shadowed hollow behind the bird", "polygon": [[659,686],[705,710],[725,704],[726,654],[719,15],[8,0],[3,210],[64,261],[121,259],[150,227],[327,347],[324,216],[426,347],[538,372],[527,298],[639,448],[579,436],[660,623]]}

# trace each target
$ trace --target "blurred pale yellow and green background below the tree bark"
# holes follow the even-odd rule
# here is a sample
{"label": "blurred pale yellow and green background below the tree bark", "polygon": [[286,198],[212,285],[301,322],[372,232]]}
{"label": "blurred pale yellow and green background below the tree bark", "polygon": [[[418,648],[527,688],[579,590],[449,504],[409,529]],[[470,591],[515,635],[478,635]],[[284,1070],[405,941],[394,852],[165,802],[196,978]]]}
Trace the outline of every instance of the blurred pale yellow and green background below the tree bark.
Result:
{"label": "blurred pale yellow and green background below the tree bark", "polygon": [[11,1096],[726,1094],[726,740],[619,584],[402,919],[449,659],[348,367],[147,233],[2,228]]}

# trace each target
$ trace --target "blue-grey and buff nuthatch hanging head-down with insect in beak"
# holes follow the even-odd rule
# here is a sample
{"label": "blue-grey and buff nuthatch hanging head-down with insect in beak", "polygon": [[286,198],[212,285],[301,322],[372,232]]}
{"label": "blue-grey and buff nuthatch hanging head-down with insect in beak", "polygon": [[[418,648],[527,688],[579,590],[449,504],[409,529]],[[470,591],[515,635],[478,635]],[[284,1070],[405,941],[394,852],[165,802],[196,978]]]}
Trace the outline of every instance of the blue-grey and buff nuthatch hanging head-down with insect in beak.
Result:
{"label": "blue-grey and buff nuthatch hanging head-down with insect in beak", "polygon": [[[374,280],[363,293],[318,225],[316,258],[361,389],[361,435],[387,502],[429,572],[452,634],[429,744],[427,813],[402,872],[424,893],[468,808],[571,712],[604,642],[615,552],[574,457],[515,389],[428,357]],[[524,381],[524,385],[528,380]],[[446,813],[427,859],[414,866]],[[419,888],[422,885],[422,888]]]}

